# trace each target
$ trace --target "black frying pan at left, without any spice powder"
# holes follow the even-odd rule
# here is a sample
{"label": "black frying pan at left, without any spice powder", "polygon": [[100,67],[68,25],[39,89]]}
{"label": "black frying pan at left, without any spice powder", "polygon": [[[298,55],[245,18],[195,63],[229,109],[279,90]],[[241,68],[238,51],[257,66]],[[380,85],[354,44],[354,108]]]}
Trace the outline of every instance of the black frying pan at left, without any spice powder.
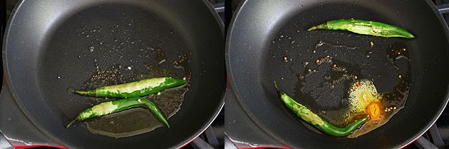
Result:
{"label": "black frying pan at left, without any spice powder", "polygon": [[[187,53],[192,71],[181,109],[168,119],[171,128],[117,139],[90,133],[82,123],[64,128],[92,104],[68,88],[83,87],[96,65],[121,65],[122,79],[129,80],[155,62],[154,53],[143,53],[150,48],[160,48],[163,67],[173,70],[179,53]],[[21,1],[6,28],[3,58],[21,111],[48,141],[68,148],[179,148],[224,104],[224,28],[207,1]]]}

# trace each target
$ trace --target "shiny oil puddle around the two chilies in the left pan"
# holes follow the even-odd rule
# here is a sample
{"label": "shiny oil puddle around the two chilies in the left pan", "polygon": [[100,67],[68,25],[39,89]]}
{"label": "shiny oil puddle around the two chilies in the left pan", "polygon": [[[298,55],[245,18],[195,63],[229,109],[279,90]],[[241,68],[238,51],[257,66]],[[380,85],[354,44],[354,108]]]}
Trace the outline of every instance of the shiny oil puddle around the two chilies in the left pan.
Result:
{"label": "shiny oil puddle around the two chilies in the left pan", "polygon": [[[172,89],[165,89],[158,94],[150,94],[145,98],[153,101],[156,106],[165,114],[167,118],[175,115],[180,110],[184,95],[188,91],[190,86],[191,70],[188,65],[187,54],[184,52],[179,53],[178,60],[173,62],[173,68],[162,67],[160,64],[165,62],[165,54],[158,48],[155,50],[157,56],[155,57],[152,65],[145,65],[148,72],[133,73],[133,78],[130,80],[135,81],[139,79],[146,79],[152,77],[177,77],[175,69],[182,69],[184,77],[187,83],[181,87],[175,87]],[[91,77],[85,84],[85,89],[92,89],[95,87],[101,87],[110,84],[124,83],[123,75],[120,74],[120,65],[113,65],[107,70],[100,70],[98,64],[96,64],[96,74]],[[125,69],[128,69],[126,67]],[[114,99],[93,98],[91,104],[99,104],[103,101],[110,101]],[[170,122],[170,121],[169,121]],[[144,108],[128,109],[120,111],[114,114],[108,114],[106,116],[100,116],[97,118],[91,118],[84,121],[88,131],[92,133],[98,133],[104,136],[110,136],[114,138],[121,138],[127,136],[135,136],[141,133],[147,133],[153,131],[155,128],[163,126],[153,114]]]}

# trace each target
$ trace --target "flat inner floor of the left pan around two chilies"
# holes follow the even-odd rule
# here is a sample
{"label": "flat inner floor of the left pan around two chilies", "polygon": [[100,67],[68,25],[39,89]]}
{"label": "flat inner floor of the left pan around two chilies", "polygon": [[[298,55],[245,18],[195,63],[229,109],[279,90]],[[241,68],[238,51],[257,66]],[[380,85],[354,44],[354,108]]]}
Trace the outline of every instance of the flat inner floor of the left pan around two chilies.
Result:
{"label": "flat inner floor of the left pan around two chilies", "polygon": [[[111,13],[111,11],[117,13]],[[92,14],[98,17],[89,17]],[[111,21],[116,20],[116,16],[120,16],[120,19]],[[179,72],[170,63],[175,61],[174,57],[180,55],[176,51],[184,53],[191,51],[191,45],[186,43],[180,28],[173,26],[170,20],[155,15],[154,12],[138,9],[135,6],[104,4],[86,9],[68,18],[61,26],[58,26],[55,32],[49,37],[46,47],[43,47],[45,50],[42,50],[40,60],[36,63],[39,65],[36,67],[40,75],[38,78],[41,78],[39,88],[42,88],[43,96],[48,98],[44,102],[53,111],[61,111],[63,116],[68,116],[66,118],[61,116],[64,120],[73,118],[77,113],[95,104],[113,100],[76,96],[76,94],[73,96],[70,89],[90,90],[105,85],[134,82],[138,80],[138,74],[157,72],[160,73],[146,77],[182,79],[184,77],[182,71]],[[166,51],[166,53],[158,57],[158,51],[160,53]],[[165,55],[173,56],[166,58]],[[165,71],[149,69],[152,65],[159,67],[159,63],[160,67],[166,67]],[[183,90],[187,91],[187,89]],[[181,98],[177,98],[180,99],[179,101],[175,101],[176,106],[182,104],[182,95]],[[156,102],[155,98],[150,100]],[[162,102],[158,106],[166,112],[168,117],[173,111],[162,109],[162,106],[167,104]],[[148,128],[146,124],[141,124],[141,127],[132,124],[150,123],[155,120],[153,116],[147,120],[139,118],[137,110],[130,109],[130,111],[136,112],[131,112],[130,115],[125,114],[128,115],[126,118],[120,118],[120,116],[93,118],[86,123],[88,130],[111,137],[123,137],[154,129],[155,126]],[[121,127],[124,123],[130,124],[125,124],[128,125],[127,127]],[[156,125],[156,127],[159,126]]]}

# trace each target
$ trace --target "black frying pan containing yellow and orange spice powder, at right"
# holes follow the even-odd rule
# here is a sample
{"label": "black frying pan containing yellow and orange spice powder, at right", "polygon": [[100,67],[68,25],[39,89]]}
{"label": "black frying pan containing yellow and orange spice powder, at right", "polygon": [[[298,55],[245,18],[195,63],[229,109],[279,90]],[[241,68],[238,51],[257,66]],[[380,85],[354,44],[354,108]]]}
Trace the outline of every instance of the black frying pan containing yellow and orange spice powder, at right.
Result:
{"label": "black frying pan containing yellow and orange spice powder, at right", "polygon": [[[416,39],[306,31],[341,18],[394,24],[411,31]],[[388,45],[406,45],[411,88],[404,108],[384,126],[358,138],[335,138],[306,128],[279,100],[273,82],[277,81],[284,92],[301,103],[296,88],[298,76],[307,71],[302,68],[303,62],[313,64],[311,60],[316,60],[311,57],[315,54],[310,54],[315,48],[326,55],[326,50],[318,46],[320,40],[326,42],[327,54],[335,57],[330,50],[356,48],[339,53],[343,55],[339,59],[350,59],[348,62],[361,70],[355,72],[358,77],[373,80],[379,92],[391,90],[398,75],[395,69],[376,65],[391,66],[386,59]],[[366,50],[370,41],[373,48]],[[279,143],[291,148],[401,148],[423,134],[448,102],[448,49],[448,28],[430,1],[244,1],[229,27],[226,58],[239,104],[257,126]],[[366,63],[366,56],[375,55],[383,56],[374,60],[378,62]],[[330,104],[326,102],[317,103]]]}

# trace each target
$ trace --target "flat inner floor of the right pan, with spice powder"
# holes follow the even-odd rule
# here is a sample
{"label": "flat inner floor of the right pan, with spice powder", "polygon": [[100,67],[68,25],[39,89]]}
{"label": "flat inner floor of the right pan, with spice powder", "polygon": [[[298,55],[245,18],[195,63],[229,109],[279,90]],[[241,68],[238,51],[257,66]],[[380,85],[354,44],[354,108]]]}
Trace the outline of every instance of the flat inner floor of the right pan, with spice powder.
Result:
{"label": "flat inner floor of the right pan, with spice powder", "polygon": [[[304,23],[310,19],[306,14],[322,9],[338,11],[339,6],[319,8],[299,13],[279,29],[263,60],[264,71],[274,71],[264,79],[274,79],[281,89],[289,87],[288,94],[296,101],[334,126],[344,127],[366,117],[365,106],[378,103],[380,116],[370,118],[363,128],[383,125],[402,109],[410,89],[408,40],[344,31],[306,31],[310,27]],[[351,10],[359,12],[363,7]],[[356,94],[365,94],[359,90],[373,96],[358,98],[361,96]]]}

